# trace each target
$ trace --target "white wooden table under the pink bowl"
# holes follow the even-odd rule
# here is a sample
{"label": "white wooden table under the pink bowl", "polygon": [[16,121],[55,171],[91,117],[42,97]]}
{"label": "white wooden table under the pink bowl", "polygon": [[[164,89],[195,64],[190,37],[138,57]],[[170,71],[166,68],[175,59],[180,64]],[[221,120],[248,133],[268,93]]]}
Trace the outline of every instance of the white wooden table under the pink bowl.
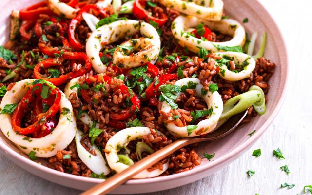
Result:
{"label": "white wooden table under the pink bowl", "polygon": [[[296,195],[303,194],[303,186],[312,185],[312,1],[260,1],[276,19],[289,48],[291,82],[283,108],[254,146],[229,166],[189,185],[151,195]],[[262,155],[251,156],[258,148]],[[272,156],[277,148],[285,159]],[[288,176],[280,170],[286,164]],[[248,169],[256,172],[251,178]],[[281,189],[285,182],[296,186]],[[0,195],[79,192],[34,176],[0,154]]]}

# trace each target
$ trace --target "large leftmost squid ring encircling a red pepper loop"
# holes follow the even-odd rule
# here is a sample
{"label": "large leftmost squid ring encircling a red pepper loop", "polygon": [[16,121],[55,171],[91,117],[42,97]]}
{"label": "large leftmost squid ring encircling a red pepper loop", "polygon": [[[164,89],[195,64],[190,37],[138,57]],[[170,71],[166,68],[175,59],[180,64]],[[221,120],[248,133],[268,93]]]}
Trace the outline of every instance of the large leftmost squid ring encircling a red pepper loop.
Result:
{"label": "large leftmost squid ring encircling a red pepper loop", "polygon": [[[19,103],[32,86],[31,83],[35,80],[36,79],[25,79],[16,82],[12,89],[7,91],[4,95],[0,108],[3,109],[6,104]],[[74,117],[72,104],[62,93],[59,108],[60,113],[62,113],[63,109],[69,110],[70,112],[66,115],[60,114],[58,125],[52,133],[45,137],[31,138],[17,134],[12,128],[11,114],[0,114],[0,129],[23,153],[29,154],[31,151],[35,151],[35,156],[37,157],[51,157],[56,155],[58,150],[66,148],[76,134],[76,119]]]}

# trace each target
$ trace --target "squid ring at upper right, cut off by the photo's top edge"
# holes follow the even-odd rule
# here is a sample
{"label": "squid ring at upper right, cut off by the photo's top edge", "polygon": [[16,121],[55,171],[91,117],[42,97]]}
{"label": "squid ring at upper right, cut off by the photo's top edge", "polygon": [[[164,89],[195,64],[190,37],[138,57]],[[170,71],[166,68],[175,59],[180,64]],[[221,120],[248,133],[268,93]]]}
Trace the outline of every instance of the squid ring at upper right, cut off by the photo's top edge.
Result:
{"label": "squid ring at upper right, cut off by the photo's top edge", "polygon": [[223,14],[222,0],[159,0],[160,4],[170,7],[186,15],[195,16],[208,21],[220,21]]}

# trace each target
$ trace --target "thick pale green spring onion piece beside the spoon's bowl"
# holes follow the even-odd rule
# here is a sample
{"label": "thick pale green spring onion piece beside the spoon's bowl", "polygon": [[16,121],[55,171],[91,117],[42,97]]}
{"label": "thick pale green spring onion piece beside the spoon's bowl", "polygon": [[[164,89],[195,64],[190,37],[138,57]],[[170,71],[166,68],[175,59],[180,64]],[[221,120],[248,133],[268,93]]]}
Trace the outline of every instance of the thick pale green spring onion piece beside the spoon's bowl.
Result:
{"label": "thick pale green spring onion piece beside the spoon's bowl", "polygon": [[235,96],[225,102],[220,119],[228,118],[254,106],[255,111],[263,115],[266,111],[264,93],[260,87],[252,86],[251,90]]}

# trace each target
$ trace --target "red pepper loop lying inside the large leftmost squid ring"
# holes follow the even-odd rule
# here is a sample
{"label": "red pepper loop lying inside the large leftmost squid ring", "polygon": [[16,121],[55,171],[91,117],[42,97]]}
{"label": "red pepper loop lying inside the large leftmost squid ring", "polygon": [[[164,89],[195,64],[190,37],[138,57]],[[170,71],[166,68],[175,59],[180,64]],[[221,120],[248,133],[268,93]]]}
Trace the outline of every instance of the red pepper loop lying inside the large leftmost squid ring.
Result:
{"label": "red pepper loop lying inside the large leftmost squid ring", "polygon": [[[51,88],[50,88],[51,89]],[[52,106],[45,113],[40,113],[37,116],[37,120],[28,127],[22,128],[21,121],[23,116],[29,111],[29,104],[33,102],[36,97],[40,96],[42,90],[42,84],[35,84],[26,95],[21,99],[16,109],[12,113],[11,123],[14,131],[26,135],[38,131],[41,126],[47,121],[48,118],[54,117],[59,111],[61,93],[58,88],[51,89],[50,96],[55,96],[55,101]]]}

